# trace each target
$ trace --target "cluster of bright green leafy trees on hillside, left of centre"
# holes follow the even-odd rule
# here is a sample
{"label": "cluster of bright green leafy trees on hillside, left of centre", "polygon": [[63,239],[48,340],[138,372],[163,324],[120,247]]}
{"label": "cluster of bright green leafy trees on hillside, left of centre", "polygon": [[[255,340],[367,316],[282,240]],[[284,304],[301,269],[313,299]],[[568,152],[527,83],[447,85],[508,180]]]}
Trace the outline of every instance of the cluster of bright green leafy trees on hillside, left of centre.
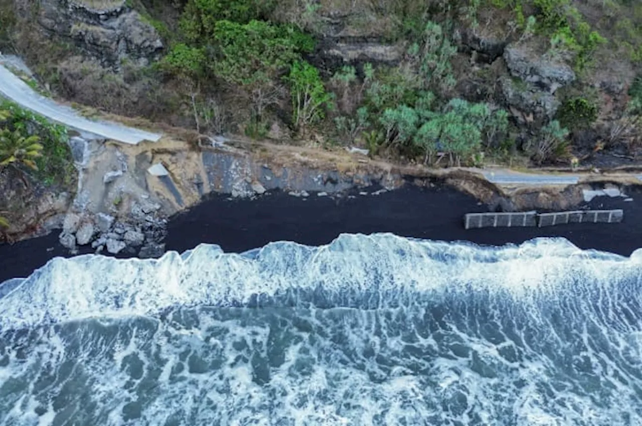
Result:
{"label": "cluster of bright green leafy trees on hillside, left of centre", "polygon": [[[201,85],[222,82],[247,94],[252,108],[245,132],[252,137],[265,136],[268,128],[265,110],[281,99],[279,83],[288,69],[295,90],[302,89],[301,84],[315,86],[308,101],[317,103],[324,92],[320,91],[323,87],[318,72],[318,81],[300,81],[313,79],[316,70],[291,68],[299,63],[301,53],[314,49],[313,38],[295,26],[259,20],[273,6],[258,0],[189,1],[180,18],[177,38],[181,41],[171,46],[160,64],[164,71],[191,81],[189,86],[196,91]],[[195,94],[191,96],[196,110]],[[309,103],[299,105],[298,112],[295,108],[294,126],[304,132],[308,124],[324,117],[324,103],[322,100],[313,107]],[[200,130],[196,111],[195,119]]]}

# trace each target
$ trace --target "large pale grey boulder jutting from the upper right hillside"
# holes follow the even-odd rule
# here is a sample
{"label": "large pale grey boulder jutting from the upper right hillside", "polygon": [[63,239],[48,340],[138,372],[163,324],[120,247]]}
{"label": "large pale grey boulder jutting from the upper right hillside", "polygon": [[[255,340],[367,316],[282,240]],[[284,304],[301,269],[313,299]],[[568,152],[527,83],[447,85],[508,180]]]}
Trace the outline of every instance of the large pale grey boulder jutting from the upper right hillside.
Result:
{"label": "large pale grey boulder jutting from the upper right hillside", "polygon": [[550,94],[575,80],[575,72],[566,62],[550,55],[539,55],[528,47],[509,46],[504,50],[503,58],[512,76]]}

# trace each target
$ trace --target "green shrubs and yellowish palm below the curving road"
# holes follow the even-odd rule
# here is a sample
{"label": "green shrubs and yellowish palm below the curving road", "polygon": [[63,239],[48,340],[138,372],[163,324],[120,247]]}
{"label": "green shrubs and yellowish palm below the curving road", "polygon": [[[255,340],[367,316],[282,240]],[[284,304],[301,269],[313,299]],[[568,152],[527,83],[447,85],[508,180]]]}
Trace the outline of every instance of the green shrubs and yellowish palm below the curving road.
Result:
{"label": "green shrubs and yellowish palm below the curving road", "polygon": [[67,129],[18,107],[0,102],[0,167],[24,165],[46,185],[68,185],[76,171],[67,145]]}

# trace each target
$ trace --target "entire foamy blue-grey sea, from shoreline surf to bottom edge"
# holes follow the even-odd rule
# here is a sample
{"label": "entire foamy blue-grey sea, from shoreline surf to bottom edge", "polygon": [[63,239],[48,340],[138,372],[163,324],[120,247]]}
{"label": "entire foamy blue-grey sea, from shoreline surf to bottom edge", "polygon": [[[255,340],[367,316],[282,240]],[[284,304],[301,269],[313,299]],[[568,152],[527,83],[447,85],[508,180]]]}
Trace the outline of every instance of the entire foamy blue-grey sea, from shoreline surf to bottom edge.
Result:
{"label": "entire foamy blue-grey sea, from shoreline surf to bottom edge", "polygon": [[642,251],[390,234],[0,285],[0,425],[642,425]]}

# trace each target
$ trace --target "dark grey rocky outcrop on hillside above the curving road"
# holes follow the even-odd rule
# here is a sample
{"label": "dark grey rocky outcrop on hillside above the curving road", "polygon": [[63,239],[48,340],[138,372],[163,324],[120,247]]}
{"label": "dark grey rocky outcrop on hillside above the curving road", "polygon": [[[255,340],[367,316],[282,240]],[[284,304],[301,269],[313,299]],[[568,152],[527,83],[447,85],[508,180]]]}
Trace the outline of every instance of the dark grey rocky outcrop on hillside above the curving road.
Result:
{"label": "dark grey rocky outcrop on hillside above the curving road", "polygon": [[83,55],[112,69],[126,60],[148,65],[163,49],[153,26],[124,3],[91,8],[69,0],[42,0],[37,22],[51,37],[71,42]]}

